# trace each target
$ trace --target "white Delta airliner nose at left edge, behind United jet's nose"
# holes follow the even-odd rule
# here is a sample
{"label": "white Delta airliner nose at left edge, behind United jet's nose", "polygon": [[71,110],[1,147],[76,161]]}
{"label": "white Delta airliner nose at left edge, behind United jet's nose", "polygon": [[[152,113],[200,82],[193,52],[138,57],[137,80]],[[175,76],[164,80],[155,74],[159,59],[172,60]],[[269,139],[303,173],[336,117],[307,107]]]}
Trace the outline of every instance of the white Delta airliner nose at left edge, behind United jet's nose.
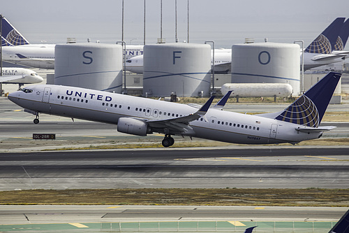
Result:
{"label": "white Delta airliner nose at left edge, behind United jet's nose", "polygon": [[20,87],[24,84],[41,83],[43,78],[31,69],[18,67],[5,67],[2,69],[0,83],[18,84]]}

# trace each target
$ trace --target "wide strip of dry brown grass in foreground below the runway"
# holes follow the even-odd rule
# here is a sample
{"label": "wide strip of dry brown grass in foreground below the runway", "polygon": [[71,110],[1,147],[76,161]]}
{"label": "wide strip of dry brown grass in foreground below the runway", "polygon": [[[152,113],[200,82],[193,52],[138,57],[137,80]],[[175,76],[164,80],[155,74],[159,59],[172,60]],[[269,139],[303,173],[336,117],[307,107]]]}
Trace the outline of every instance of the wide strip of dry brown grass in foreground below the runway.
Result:
{"label": "wide strip of dry brown grass in foreground below the runway", "polygon": [[0,192],[0,204],[349,206],[349,189],[76,189]]}

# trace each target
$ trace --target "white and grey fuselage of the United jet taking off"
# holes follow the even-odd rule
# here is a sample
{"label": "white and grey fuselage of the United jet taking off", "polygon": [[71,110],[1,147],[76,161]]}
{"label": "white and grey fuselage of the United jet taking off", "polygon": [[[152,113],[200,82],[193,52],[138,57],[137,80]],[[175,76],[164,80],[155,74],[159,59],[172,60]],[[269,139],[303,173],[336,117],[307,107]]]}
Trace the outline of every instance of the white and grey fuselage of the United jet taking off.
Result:
{"label": "white and grey fuselage of the United jet taking off", "polygon": [[[79,87],[35,85],[26,92],[18,91],[8,97],[15,104],[34,113],[60,115],[117,125],[119,118],[136,120],[165,120],[190,115],[198,109],[186,104],[132,97],[123,94],[88,90]],[[31,90],[31,91],[28,91]],[[304,133],[290,122],[209,109],[205,118],[190,122],[193,130],[182,135],[228,143],[267,144],[297,143],[317,139],[322,132]],[[152,127],[151,132],[166,133]]]}

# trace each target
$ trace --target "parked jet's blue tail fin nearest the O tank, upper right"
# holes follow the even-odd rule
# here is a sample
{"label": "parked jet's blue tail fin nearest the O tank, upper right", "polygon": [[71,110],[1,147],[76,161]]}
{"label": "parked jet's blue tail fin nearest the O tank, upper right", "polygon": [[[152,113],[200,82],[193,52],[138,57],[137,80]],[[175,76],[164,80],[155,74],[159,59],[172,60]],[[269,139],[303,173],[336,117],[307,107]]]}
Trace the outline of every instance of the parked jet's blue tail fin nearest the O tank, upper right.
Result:
{"label": "parked jet's blue tail fin nearest the O tank, upper right", "polygon": [[304,50],[310,53],[330,54],[334,50],[337,38],[345,17],[337,17],[322,33]]}

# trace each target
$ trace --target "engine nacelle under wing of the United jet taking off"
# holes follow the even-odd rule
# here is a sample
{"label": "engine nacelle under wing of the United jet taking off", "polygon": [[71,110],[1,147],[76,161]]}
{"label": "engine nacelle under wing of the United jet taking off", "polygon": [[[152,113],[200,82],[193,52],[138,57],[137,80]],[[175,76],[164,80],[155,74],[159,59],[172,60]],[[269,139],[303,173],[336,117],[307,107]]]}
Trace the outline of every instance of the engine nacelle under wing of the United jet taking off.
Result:
{"label": "engine nacelle under wing of the United jet taking off", "polygon": [[146,122],[133,118],[119,118],[117,121],[117,131],[126,134],[147,136],[151,130]]}

